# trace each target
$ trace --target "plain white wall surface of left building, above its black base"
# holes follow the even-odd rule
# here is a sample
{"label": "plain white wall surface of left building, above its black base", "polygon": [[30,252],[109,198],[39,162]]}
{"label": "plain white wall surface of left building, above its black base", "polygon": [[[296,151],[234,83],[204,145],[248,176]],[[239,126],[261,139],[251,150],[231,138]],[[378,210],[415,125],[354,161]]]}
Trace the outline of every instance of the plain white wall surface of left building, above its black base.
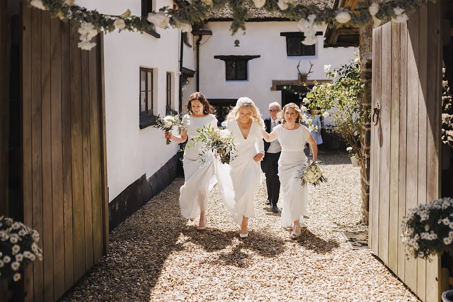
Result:
{"label": "plain white wall surface of left building, above its black base", "polygon": [[[78,5],[106,14],[122,14],[130,9],[141,15],[140,0],[76,0]],[[156,7],[172,6],[171,0],[157,0]],[[161,38],[123,31],[104,37],[105,101],[107,132],[107,177],[109,202],[146,173],[149,178],[177,150],[165,144],[161,130],[139,128],[139,67],[154,70],[155,114],[165,115],[166,72],[173,73],[173,109],[178,109],[180,32],[156,30]]]}

